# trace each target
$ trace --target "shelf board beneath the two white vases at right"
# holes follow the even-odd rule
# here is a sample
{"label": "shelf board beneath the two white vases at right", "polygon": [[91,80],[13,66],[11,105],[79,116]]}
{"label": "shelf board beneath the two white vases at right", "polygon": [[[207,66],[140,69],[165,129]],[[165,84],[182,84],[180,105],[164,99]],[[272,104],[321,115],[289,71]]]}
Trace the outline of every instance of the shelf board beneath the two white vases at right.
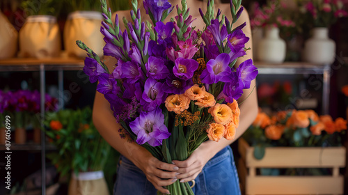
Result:
{"label": "shelf board beneath the two white vases at right", "polygon": [[306,62],[284,62],[281,64],[255,61],[260,75],[322,75],[330,70],[329,64],[313,64]]}

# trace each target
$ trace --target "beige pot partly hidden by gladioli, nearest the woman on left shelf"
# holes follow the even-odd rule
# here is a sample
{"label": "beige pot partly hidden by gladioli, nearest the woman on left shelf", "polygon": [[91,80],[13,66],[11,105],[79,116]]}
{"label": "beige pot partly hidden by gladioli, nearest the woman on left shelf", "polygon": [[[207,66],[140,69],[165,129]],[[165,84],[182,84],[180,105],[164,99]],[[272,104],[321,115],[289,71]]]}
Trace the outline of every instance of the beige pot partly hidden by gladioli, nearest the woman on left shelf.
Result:
{"label": "beige pot partly hidden by gladioli, nearest the woman on left shelf", "polygon": [[64,27],[64,46],[68,56],[86,57],[86,51],[76,45],[77,40],[84,42],[98,55],[103,55],[105,42],[100,33],[102,13],[95,11],[76,11],[70,13]]}

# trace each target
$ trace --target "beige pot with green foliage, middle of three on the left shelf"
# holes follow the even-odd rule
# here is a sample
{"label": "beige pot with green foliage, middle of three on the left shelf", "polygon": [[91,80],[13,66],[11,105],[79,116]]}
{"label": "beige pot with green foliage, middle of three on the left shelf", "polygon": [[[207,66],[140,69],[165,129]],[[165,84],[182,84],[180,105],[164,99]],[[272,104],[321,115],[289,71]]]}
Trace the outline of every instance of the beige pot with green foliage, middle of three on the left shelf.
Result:
{"label": "beige pot with green foliage, middle of three on the left shelf", "polygon": [[56,22],[59,1],[22,1],[26,22],[19,30],[19,56],[38,59],[60,55],[61,33]]}

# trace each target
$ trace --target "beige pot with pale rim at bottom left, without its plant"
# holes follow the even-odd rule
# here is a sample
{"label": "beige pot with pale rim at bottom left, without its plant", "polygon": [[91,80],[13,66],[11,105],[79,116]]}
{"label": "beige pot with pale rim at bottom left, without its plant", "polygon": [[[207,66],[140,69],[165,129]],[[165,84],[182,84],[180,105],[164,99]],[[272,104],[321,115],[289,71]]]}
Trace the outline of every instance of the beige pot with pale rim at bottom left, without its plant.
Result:
{"label": "beige pot with pale rim at bottom left, without its plant", "polygon": [[103,171],[72,173],[68,195],[109,195]]}

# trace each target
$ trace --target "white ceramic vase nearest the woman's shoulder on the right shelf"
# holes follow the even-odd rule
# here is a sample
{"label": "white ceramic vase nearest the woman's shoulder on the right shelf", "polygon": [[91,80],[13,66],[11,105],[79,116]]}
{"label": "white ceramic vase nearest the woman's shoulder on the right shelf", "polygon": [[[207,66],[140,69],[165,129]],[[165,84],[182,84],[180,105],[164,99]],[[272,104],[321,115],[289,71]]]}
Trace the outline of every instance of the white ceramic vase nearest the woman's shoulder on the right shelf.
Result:
{"label": "white ceramic vase nearest the woman's shoulder on the right shelf", "polygon": [[286,54],[285,40],[279,36],[279,29],[265,29],[265,36],[258,45],[258,60],[267,63],[283,63]]}

